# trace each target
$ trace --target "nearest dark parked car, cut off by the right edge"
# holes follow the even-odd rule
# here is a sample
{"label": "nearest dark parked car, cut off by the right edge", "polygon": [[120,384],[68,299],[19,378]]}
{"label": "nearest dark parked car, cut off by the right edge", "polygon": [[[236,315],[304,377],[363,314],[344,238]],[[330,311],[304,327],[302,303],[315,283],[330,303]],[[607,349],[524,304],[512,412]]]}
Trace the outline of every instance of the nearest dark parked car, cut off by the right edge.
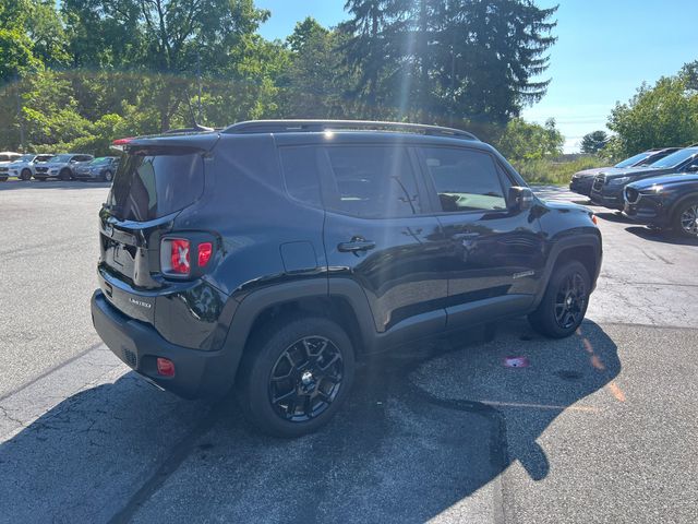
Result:
{"label": "nearest dark parked car, cut off by the right edge", "polygon": [[624,195],[628,218],[698,238],[698,174],[646,178],[626,186]]}

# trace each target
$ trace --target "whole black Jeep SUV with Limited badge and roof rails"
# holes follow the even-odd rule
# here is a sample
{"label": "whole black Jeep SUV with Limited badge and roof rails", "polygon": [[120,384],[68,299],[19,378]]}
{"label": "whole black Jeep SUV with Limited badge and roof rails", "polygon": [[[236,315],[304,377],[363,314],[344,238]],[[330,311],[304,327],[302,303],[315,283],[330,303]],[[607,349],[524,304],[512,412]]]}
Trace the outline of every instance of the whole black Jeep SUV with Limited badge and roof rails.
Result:
{"label": "whole black Jeep SUV with Limited badge and roof rails", "polygon": [[375,352],[524,314],[567,336],[599,275],[592,214],[465,131],[256,121],[124,150],[95,329],[182,396],[234,384],[273,434],[325,424]]}

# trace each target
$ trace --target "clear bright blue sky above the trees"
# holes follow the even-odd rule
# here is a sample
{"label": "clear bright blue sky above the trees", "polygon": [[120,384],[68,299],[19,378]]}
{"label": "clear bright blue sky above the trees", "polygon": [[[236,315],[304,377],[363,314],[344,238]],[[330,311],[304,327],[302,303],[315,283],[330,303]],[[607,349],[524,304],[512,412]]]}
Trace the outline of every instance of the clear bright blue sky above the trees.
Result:
{"label": "clear bright blue sky above the trees", "polygon": [[[255,0],[272,11],[260,33],[285,38],[298,21],[314,16],[326,26],[345,20],[344,0]],[[653,83],[698,60],[698,1],[540,0],[559,3],[558,40],[550,51],[545,97],[524,118],[555,118],[565,150],[578,150],[581,136],[604,129],[616,100],[626,102],[642,82]]]}

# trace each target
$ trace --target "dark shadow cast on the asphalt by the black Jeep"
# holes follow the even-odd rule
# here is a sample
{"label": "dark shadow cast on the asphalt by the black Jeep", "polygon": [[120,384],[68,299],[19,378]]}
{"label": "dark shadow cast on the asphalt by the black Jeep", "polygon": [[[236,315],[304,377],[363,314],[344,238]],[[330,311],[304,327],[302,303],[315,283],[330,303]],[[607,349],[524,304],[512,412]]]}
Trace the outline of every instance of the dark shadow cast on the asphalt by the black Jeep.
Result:
{"label": "dark shadow cast on the asphalt by the black Jeep", "polygon": [[519,462],[544,478],[555,456],[537,439],[562,413],[603,409],[610,395],[588,397],[621,370],[594,323],[551,341],[519,320],[486,343],[466,332],[373,364],[338,416],[297,440],[257,434],[230,400],[180,401],[133,373],[83,391],[0,445],[0,521],[485,521],[500,474]]}

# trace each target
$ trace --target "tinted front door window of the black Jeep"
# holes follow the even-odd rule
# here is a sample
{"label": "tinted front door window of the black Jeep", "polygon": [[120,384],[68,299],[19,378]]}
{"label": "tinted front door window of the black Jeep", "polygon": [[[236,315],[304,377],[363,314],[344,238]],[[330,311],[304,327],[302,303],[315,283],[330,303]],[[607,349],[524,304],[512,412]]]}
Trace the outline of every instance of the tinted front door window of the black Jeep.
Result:
{"label": "tinted front door window of the black Jeep", "polygon": [[506,199],[490,155],[478,151],[422,150],[443,211],[506,210]]}

